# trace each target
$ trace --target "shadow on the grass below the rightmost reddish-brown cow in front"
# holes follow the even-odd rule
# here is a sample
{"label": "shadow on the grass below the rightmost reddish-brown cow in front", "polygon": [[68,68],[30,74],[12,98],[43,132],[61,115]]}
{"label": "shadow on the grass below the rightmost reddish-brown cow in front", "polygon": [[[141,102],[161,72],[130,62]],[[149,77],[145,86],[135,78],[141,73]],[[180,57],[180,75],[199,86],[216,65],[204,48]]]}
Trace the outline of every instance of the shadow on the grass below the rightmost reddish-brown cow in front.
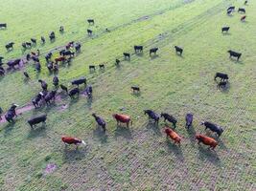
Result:
{"label": "shadow on the grass below the rightmost reddish-brown cow in front", "polygon": [[210,149],[209,147],[204,147],[202,145],[198,145],[198,159],[208,160],[216,166],[221,165],[221,159],[218,156],[215,150]]}

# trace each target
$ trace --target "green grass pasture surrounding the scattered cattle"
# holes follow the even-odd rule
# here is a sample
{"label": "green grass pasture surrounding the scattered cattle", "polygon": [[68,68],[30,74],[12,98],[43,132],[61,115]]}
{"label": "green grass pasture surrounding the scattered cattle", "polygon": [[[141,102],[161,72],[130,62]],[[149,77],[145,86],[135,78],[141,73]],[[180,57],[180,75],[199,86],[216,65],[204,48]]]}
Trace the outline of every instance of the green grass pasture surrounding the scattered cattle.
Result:
{"label": "green grass pasture surrounding the scattered cattle", "polygon": [[[256,4],[244,0],[0,0],[0,55],[4,62],[23,55],[21,43],[47,37],[42,53],[75,40],[81,53],[58,72],[60,82],[86,76],[93,86],[93,100],[61,96],[55,104],[24,112],[14,125],[0,123],[0,190],[256,190]],[[230,5],[246,9],[246,22]],[[88,26],[86,19],[94,18]],[[64,26],[60,34],[58,28]],[[230,26],[228,34],[221,27]],[[105,28],[110,32],[105,32]],[[93,36],[88,37],[86,30]],[[50,43],[48,34],[57,33]],[[12,52],[5,45],[15,42]],[[134,45],[143,45],[136,55]],[[182,57],[174,46],[184,48]],[[149,50],[158,47],[158,56]],[[243,53],[239,62],[228,50]],[[25,53],[29,53],[27,51]],[[123,61],[123,53],[131,54]],[[121,67],[114,66],[122,59]],[[15,102],[27,105],[40,91],[39,78],[52,86],[53,74],[40,57],[42,71],[33,63],[0,78],[0,106],[6,111]],[[90,64],[105,62],[105,72],[89,73]],[[22,72],[31,75],[24,82]],[[229,74],[229,87],[218,89],[216,72]],[[141,95],[131,94],[138,85]],[[63,108],[63,105],[65,106]],[[123,108],[123,111],[120,109]],[[167,141],[165,123],[148,123],[144,109],[168,112],[178,119],[181,146]],[[98,129],[91,114],[105,117],[107,131]],[[185,115],[195,116],[185,129]],[[32,130],[27,119],[47,113],[45,128]],[[116,127],[113,113],[128,114],[131,128]],[[216,151],[198,146],[196,133],[213,137],[199,125],[210,120],[224,128]],[[65,148],[61,136],[82,138],[87,146]],[[216,137],[214,137],[216,138]],[[45,174],[48,164],[57,169]]]}

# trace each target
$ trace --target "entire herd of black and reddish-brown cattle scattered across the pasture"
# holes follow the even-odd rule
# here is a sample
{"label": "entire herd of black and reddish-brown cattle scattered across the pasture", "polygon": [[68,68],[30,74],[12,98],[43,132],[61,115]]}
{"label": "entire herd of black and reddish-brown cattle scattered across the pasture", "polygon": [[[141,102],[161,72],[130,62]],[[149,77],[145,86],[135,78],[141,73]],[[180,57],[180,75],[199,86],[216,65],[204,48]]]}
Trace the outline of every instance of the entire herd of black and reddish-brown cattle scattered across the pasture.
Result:
{"label": "entire herd of black and reddish-brown cattle scattered across the pasture", "polygon": [[[244,4],[247,4],[247,1],[244,2]],[[231,14],[233,11],[235,11],[235,7],[229,7],[227,9],[227,13]],[[239,9],[239,12],[243,12],[245,13],[244,9]],[[245,19],[245,16],[243,16],[243,18]],[[242,20],[244,20],[242,19]],[[88,19],[87,22],[89,23],[89,25],[93,25],[94,24],[94,20],[93,19]],[[0,24],[0,28],[7,28],[7,24]],[[221,29],[221,32],[228,32],[229,31],[229,27],[223,27]],[[59,28],[59,32],[64,32],[64,28],[61,26]],[[89,33],[89,32],[88,32]],[[91,32],[90,32],[91,33]],[[50,40],[54,40],[55,39],[55,32],[51,32],[49,35]],[[35,39],[31,39],[32,43],[36,44],[36,40]],[[41,43],[45,43],[45,38],[42,36],[41,37]],[[12,45],[14,43],[9,43],[8,45],[6,45],[6,49],[10,50],[12,49]],[[22,47],[24,49],[27,49],[28,47],[31,47],[32,44],[30,42],[24,42],[22,43]],[[134,52],[135,53],[142,53],[143,52],[143,46],[141,45],[136,45],[134,46]],[[75,51],[74,51],[75,50]],[[66,61],[70,61],[70,59],[72,59],[75,55],[75,53],[80,53],[81,51],[81,44],[80,43],[75,43],[75,42],[69,42],[66,46],[65,49],[61,50],[59,52],[59,56],[57,58],[55,58],[54,60],[52,59],[53,53],[47,53],[45,55],[45,59],[47,62],[47,68],[49,71],[57,71],[58,70],[58,62],[66,62]],[[150,49],[150,56],[151,54],[156,54],[158,51],[158,48],[151,48]],[[179,54],[180,56],[182,56],[183,53],[183,49],[175,46],[175,52],[177,54]],[[230,57],[234,56],[237,58],[237,60],[240,59],[242,53],[236,53],[234,51],[228,51]],[[130,53],[123,53],[124,54],[124,58],[125,60],[130,59]],[[35,61],[35,70],[36,71],[40,71],[40,61],[39,61],[39,51],[37,51],[37,53],[28,53],[26,55],[26,59],[27,61],[29,61],[30,59],[33,59]],[[5,74],[4,72],[4,68],[2,67],[2,60],[3,57],[0,56],[0,74]],[[23,61],[23,59],[15,59],[12,61],[7,62],[7,65],[9,66],[10,69],[14,69],[14,67],[16,65],[19,65],[20,62]],[[119,66],[120,64],[120,60],[116,59],[116,66]],[[101,64],[99,65],[100,69],[105,69],[105,65]],[[90,65],[89,66],[89,70],[95,70],[95,66],[94,65]],[[27,72],[24,72],[24,75],[26,78],[30,78],[29,74]],[[222,73],[216,73],[214,79],[216,80],[217,78],[221,78],[221,81],[218,83],[218,87],[225,87],[228,81],[228,74],[222,74]],[[71,88],[70,90],[68,90],[68,88],[63,85],[63,84],[59,84],[59,80],[58,80],[58,76],[55,75],[53,78],[53,84],[56,87],[55,90],[49,91],[48,90],[48,84],[46,83],[46,81],[39,79],[38,82],[41,85],[41,91],[33,98],[32,103],[35,106],[35,108],[41,107],[43,105],[43,103],[45,103],[46,105],[51,104],[51,102],[53,102],[57,96],[57,90],[58,87],[65,92],[68,96],[70,96],[70,98],[74,98],[74,96],[79,96],[80,95],[80,85],[84,84],[85,89],[84,89],[84,93],[88,96],[88,98],[92,97],[92,86],[87,85],[86,83],[86,78],[84,76],[82,76],[81,78],[78,79],[74,79],[71,81],[71,84],[76,86]],[[133,93],[137,93],[140,92],[140,88],[137,86],[132,86],[131,89],[133,90]],[[6,112],[5,114],[5,118],[8,122],[13,123],[14,117],[17,117],[16,115],[16,109],[17,109],[18,105],[16,104],[12,104],[11,108]],[[3,114],[2,109],[0,108],[0,120],[1,115]],[[159,119],[160,118],[164,118],[164,121],[168,121],[170,123],[173,124],[173,129],[170,128],[169,126],[167,126],[164,130],[164,132],[166,133],[167,137],[172,138],[175,143],[180,144],[181,142],[181,137],[175,132],[175,128],[176,128],[176,123],[177,123],[177,119],[167,113],[161,113],[160,115],[157,114],[156,112],[152,111],[152,110],[144,110],[144,114],[148,115],[149,119],[154,121],[154,124],[158,124]],[[96,114],[92,114],[92,117],[94,117],[95,121],[97,122],[97,124],[103,128],[103,131],[106,131],[106,122],[104,117],[100,117]],[[129,127],[129,125],[132,125],[132,120],[131,117],[129,117],[128,115],[124,115],[124,114],[113,114],[112,117],[116,120],[117,125],[119,125],[120,123],[125,123],[127,125],[127,128]],[[47,120],[47,115],[43,114],[37,117],[32,117],[28,120],[29,125],[34,128],[34,126],[38,123],[46,123]],[[193,114],[187,114],[185,117],[186,120],[186,125],[185,127],[187,129],[192,127],[193,124]],[[200,123],[200,125],[204,125],[205,126],[205,130],[206,129],[210,129],[212,132],[216,133],[219,137],[221,137],[221,134],[223,133],[223,129],[221,128],[221,126],[212,123],[210,121],[202,121]],[[198,139],[198,143],[202,142],[205,145],[209,145],[210,148],[214,149],[217,145],[218,145],[218,141],[215,138],[210,138],[201,134],[197,134],[196,138]],[[72,138],[72,137],[62,137],[61,138],[62,141],[65,144],[76,144],[77,146],[81,143],[85,144],[85,142],[83,140],[81,140],[80,138]]]}

